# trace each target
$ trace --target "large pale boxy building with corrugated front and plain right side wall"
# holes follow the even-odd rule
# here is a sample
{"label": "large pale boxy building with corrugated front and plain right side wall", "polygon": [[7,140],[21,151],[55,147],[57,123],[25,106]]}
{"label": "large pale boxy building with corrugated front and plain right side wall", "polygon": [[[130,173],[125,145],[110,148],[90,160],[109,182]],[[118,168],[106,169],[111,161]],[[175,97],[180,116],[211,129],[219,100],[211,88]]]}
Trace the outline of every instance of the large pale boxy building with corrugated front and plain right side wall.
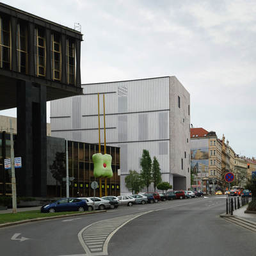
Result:
{"label": "large pale boxy building with corrugated front and plain right side wall", "polygon": [[175,76],[82,86],[84,95],[51,102],[52,136],[97,143],[99,93],[104,138],[104,94],[106,143],[120,147],[121,192],[128,193],[129,170],[140,172],[143,149],[157,157],[163,181],[190,188],[190,95]]}

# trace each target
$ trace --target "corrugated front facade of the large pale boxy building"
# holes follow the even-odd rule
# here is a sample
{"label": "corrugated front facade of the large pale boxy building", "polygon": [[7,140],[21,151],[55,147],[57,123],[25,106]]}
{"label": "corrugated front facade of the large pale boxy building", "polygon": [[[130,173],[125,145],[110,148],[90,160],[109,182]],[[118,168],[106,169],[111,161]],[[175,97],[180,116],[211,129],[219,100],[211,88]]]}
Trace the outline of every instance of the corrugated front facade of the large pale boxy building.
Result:
{"label": "corrugated front facade of the large pale boxy building", "polygon": [[[124,177],[129,170],[140,171],[143,149],[157,157],[162,179],[170,175],[170,77],[84,84],[84,95],[51,102],[52,136],[98,142],[97,93],[100,113],[106,101],[106,141],[120,147],[121,191],[127,193]],[[63,116],[61,118],[60,116]],[[103,116],[100,116],[103,128]],[[100,133],[104,141],[103,129]]]}

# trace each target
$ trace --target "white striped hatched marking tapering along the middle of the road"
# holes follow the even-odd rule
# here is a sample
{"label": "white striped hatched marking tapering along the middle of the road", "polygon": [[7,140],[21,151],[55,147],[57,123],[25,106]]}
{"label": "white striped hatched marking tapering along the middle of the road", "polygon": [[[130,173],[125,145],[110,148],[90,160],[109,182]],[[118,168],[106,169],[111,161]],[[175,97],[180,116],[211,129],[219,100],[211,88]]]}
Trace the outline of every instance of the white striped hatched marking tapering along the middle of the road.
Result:
{"label": "white striped hatched marking tapering along the middle of the road", "polygon": [[83,228],[78,234],[78,239],[86,255],[108,255],[108,243],[115,232],[129,221],[148,212],[151,211],[97,221]]}

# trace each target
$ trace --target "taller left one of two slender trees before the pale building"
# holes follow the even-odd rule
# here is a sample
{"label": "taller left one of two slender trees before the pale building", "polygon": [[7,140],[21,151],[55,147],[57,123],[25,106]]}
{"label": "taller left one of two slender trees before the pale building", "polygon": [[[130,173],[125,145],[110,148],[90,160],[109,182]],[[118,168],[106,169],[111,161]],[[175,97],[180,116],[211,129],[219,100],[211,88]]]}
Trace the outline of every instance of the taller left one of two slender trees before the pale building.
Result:
{"label": "taller left one of two slender trees before the pale building", "polygon": [[140,159],[140,166],[141,166],[141,178],[143,179],[145,186],[150,186],[150,183],[152,182],[152,160],[150,158],[150,154],[148,150],[143,149],[142,156]]}

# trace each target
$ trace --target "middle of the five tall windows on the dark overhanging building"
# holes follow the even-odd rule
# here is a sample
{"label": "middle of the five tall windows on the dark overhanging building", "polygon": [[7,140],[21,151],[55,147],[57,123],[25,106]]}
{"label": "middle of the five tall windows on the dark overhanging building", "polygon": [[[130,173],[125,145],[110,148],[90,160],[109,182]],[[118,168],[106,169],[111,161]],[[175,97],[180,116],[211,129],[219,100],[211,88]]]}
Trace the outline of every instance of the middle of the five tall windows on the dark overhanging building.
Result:
{"label": "middle of the five tall windows on the dark overhanging building", "polygon": [[44,30],[40,28],[35,29],[36,36],[36,76],[45,76],[45,66],[46,66],[46,58],[45,58],[45,37]]}

